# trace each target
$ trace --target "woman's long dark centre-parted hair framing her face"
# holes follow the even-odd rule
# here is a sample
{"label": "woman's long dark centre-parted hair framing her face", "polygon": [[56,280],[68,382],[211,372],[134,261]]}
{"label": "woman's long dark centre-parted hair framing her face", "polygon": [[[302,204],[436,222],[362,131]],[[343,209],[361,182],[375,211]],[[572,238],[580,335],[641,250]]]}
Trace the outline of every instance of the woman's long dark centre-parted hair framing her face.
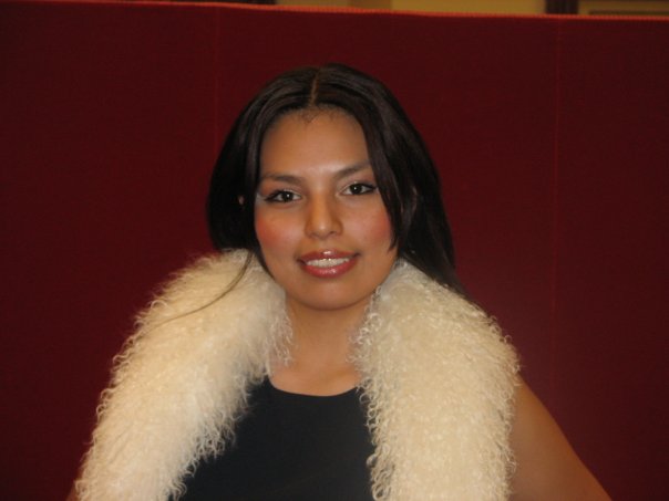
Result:
{"label": "woman's long dark centre-parted hair framing her face", "polygon": [[385,85],[342,64],[282,73],[241,112],[212,176],[207,215],[214,246],[222,251],[250,250],[263,262],[254,227],[263,138],[286,114],[332,108],[362,127],[398,254],[463,293],[439,176],[428,148]]}

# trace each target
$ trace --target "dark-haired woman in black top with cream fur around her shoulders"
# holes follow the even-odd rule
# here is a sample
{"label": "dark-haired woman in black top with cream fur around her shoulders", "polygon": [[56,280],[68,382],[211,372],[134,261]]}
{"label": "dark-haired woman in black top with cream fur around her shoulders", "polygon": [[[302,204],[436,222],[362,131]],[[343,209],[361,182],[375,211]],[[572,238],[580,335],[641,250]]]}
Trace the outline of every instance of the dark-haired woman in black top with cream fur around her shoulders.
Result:
{"label": "dark-haired woman in black top with cream fur around her shoulders", "polygon": [[220,253],[141,317],[80,500],[608,499],[467,300],[436,170],[380,82],[270,82],[208,215]]}

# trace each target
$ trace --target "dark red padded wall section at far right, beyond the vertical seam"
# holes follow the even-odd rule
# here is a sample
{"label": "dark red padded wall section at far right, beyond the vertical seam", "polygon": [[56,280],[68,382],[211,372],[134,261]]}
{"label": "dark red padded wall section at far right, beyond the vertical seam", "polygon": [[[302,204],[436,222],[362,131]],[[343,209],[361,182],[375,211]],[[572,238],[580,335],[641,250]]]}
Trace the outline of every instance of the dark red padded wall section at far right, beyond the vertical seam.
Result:
{"label": "dark red padded wall section at far right, beyond the vertical seam", "polygon": [[562,27],[555,414],[615,499],[669,498],[667,28]]}

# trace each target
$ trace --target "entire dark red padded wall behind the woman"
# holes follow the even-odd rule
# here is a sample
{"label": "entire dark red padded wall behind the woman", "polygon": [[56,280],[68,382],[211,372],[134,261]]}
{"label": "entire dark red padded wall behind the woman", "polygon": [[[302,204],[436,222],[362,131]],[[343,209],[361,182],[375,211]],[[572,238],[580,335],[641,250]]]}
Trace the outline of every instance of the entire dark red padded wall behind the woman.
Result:
{"label": "entire dark red padded wall behind the woman", "polygon": [[385,81],[459,269],[617,500],[667,499],[669,22],[0,3],[0,498],[62,499],[132,314],[209,249],[231,118],[298,64]]}

